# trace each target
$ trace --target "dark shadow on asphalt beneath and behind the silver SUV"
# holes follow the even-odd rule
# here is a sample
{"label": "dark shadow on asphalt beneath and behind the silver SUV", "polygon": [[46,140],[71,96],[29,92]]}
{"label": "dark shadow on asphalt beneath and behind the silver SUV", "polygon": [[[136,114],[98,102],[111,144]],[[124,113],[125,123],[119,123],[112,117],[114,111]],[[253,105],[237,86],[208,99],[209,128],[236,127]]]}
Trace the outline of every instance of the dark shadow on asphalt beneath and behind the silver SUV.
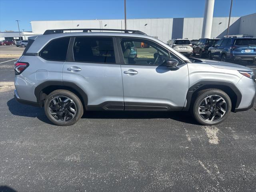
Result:
{"label": "dark shadow on asphalt beneath and behind the silver SUV", "polygon": [[[44,114],[43,108],[18,103],[14,98],[7,102],[13,115],[38,118],[42,122],[52,124]],[[197,124],[189,112],[151,112],[151,111],[87,111],[82,118],[88,119],[157,119],[170,118],[176,121]]]}

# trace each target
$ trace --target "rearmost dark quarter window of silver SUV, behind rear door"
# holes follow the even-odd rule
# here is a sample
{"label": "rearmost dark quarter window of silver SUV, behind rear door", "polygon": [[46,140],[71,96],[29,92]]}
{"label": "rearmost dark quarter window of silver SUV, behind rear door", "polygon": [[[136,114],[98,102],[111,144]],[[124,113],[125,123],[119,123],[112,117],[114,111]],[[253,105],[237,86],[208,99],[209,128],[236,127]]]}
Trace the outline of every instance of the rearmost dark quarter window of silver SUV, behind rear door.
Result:
{"label": "rearmost dark quarter window of silver SUV, behind rear door", "polygon": [[40,53],[46,60],[65,61],[70,38],[60,38],[51,41]]}

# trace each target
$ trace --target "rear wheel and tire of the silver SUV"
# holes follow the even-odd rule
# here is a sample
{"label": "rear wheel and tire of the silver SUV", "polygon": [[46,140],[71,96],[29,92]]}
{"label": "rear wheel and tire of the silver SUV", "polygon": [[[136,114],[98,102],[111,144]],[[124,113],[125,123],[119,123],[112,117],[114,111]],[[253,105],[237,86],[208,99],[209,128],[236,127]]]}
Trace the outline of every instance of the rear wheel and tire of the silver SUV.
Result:
{"label": "rear wheel and tire of the silver SUV", "polygon": [[44,100],[44,112],[52,123],[69,126],[82,117],[84,109],[81,100],[74,93],[68,90],[55,90]]}

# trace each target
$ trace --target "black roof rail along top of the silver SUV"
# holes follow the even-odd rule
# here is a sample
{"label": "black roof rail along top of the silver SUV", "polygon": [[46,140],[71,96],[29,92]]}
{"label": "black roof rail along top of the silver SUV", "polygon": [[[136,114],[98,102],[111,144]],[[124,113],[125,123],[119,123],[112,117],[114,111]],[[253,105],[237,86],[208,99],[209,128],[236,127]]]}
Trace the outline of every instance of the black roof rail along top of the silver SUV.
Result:
{"label": "black roof rail along top of the silver SUV", "polygon": [[92,32],[93,31],[121,31],[124,33],[134,33],[134,34],[142,34],[147,35],[146,33],[138,30],[124,30],[124,29],[48,29],[44,32],[44,35],[48,34],[56,34],[56,33],[64,33],[64,31],[79,31],[83,30],[83,32]]}

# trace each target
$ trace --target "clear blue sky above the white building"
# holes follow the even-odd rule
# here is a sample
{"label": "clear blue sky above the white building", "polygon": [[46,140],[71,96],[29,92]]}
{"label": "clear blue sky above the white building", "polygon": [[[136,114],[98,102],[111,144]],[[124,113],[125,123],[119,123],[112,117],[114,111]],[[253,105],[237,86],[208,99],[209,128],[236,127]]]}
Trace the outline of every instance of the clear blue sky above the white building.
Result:
{"label": "clear blue sky above the white building", "polygon": [[[214,17],[229,16],[231,0],[215,0]],[[127,19],[203,17],[205,0],[126,0]],[[233,0],[231,16],[256,12],[256,0]],[[124,0],[0,0],[0,31],[32,31],[34,20],[124,19]]]}

